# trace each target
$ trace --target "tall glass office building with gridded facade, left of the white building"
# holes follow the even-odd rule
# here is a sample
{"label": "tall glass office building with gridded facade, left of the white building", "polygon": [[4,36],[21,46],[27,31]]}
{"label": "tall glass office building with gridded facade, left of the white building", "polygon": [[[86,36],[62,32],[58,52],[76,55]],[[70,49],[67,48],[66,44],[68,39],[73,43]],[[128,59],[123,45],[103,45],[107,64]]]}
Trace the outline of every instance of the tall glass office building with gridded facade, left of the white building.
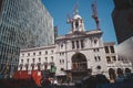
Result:
{"label": "tall glass office building with gridded facade, left of the white building", "polygon": [[0,0],[1,74],[17,69],[20,48],[53,42],[53,19],[41,0]]}

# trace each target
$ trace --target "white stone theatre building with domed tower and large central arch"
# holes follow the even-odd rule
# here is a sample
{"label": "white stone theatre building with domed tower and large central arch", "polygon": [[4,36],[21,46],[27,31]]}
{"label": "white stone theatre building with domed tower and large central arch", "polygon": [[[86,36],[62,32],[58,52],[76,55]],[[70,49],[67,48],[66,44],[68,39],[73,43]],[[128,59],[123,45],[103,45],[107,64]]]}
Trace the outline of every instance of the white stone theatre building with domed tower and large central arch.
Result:
{"label": "white stone theatre building with domed tower and large central arch", "polygon": [[113,42],[103,43],[101,30],[85,31],[78,13],[69,23],[70,32],[57,36],[53,45],[21,50],[18,70],[48,70],[54,65],[57,78],[69,75],[73,81],[90,74],[115,78],[132,70],[131,63],[116,55]]}

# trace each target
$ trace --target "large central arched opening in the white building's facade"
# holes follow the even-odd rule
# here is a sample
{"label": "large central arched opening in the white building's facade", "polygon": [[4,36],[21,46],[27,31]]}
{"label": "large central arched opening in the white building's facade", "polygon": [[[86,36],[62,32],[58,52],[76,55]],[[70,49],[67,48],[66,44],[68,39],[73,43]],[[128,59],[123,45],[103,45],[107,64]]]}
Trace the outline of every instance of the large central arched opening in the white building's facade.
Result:
{"label": "large central arched opening in the white building's facade", "polygon": [[86,57],[82,53],[75,53],[72,56],[72,80],[81,80],[88,75]]}

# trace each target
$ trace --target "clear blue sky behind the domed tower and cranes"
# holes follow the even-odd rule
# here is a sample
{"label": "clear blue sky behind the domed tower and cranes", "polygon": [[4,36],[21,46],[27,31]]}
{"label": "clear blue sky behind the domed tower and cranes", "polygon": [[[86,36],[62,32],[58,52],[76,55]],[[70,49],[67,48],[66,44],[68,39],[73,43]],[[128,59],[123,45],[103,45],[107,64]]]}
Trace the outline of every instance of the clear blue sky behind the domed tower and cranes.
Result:
{"label": "clear blue sky behind the domed tower and cranes", "polygon": [[[58,26],[59,35],[64,35],[70,31],[70,24],[66,23],[68,14],[73,13],[75,3],[78,2],[79,14],[84,20],[86,31],[96,29],[92,19],[91,4],[93,0],[42,0],[44,7],[53,18],[53,25]],[[98,16],[100,19],[100,29],[103,31],[104,42],[115,42],[112,11],[114,9],[113,0],[98,0]]]}

